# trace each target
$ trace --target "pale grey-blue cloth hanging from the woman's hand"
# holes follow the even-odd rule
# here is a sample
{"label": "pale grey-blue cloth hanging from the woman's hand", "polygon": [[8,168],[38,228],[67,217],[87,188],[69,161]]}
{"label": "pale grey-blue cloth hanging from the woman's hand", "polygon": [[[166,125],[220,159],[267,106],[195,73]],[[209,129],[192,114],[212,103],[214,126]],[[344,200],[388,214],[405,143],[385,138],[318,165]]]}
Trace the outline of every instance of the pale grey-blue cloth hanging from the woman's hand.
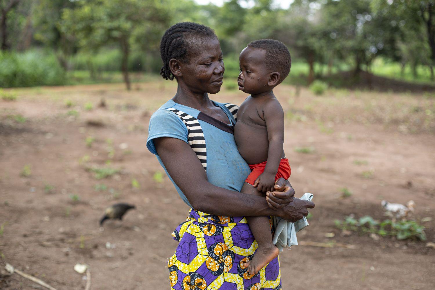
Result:
{"label": "pale grey-blue cloth hanging from the woman's hand", "polygon": [[[312,200],[313,194],[305,193],[300,199]],[[273,217],[273,223],[275,234],[272,241],[280,252],[282,252],[284,248],[290,249],[291,246],[297,245],[298,239],[296,238],[296,233],[308,226],[306,217],[303,217],[295,223],[290,223],[287,220],[281,219],[281,217]]]}

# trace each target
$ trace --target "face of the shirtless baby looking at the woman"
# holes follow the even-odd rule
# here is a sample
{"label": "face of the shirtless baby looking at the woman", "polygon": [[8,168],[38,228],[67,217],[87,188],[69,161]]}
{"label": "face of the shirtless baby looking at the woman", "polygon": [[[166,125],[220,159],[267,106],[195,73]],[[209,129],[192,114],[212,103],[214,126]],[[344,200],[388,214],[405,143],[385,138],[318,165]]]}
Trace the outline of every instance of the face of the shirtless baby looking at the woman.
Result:
{"label": "face of the shirtless baby looking at the woman", "polygon": [[266,51],[260,48],[246,47],[240,53],[240,73],[237,79],[239,90],[255,95],[270,90],[269,73],[264,64]]}

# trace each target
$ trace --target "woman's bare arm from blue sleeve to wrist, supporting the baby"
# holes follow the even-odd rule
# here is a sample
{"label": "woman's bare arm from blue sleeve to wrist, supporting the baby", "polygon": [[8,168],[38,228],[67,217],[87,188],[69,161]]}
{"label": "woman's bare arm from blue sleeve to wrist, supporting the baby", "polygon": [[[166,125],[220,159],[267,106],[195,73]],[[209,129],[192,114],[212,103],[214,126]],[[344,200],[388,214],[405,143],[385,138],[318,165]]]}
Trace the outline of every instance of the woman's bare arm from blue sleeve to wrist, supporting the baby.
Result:
{"label": "woman's bare arm from blue sleeve to wrist, supporting the baby", "polygon": [[183,140],[160,137],[153,141],[167,172],[195,210],[229,217],[281,217],[284,213],[271,209],[264,197],[240,194],[209,183],[198,157]]}

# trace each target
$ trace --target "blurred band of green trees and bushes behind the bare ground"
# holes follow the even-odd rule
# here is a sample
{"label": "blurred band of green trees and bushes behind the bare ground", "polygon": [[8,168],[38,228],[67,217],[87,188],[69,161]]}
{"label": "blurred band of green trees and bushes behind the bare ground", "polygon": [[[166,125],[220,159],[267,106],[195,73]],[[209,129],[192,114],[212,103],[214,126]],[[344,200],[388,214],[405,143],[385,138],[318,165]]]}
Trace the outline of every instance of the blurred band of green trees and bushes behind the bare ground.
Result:
{"label": "blurred band of green trees and bushes behind the bare ground", "polygon": [[358,82],[364,71],[433,83],[434,0],[294,0],[288,9],[278,4],[0,0],[0,87],[117,81],[122,72],[129,89],[129,72],[159,73],[161,36],[181,21],[215,30],[226,77],[238,75],[238,53],[247,43],[274,38],[291,52],[290,83],[317,78],[342,86],[348,77],[339,72],[352,72]]}

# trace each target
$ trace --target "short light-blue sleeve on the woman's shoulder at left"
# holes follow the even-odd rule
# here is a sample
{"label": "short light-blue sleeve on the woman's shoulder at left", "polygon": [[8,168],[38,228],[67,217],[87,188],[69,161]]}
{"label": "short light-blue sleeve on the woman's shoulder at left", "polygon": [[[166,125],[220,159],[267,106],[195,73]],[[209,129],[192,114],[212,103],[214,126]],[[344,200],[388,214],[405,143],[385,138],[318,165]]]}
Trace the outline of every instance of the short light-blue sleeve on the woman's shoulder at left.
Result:
{"label": "short light-blue sleeve on the woman's shoulder at left", "polygon": [[150,119],[148,128],[147,148],[157,155],[153,139],[160,137],[172,137],[187,143],[187,127],[174,113],[161,109],[157,110]]}

